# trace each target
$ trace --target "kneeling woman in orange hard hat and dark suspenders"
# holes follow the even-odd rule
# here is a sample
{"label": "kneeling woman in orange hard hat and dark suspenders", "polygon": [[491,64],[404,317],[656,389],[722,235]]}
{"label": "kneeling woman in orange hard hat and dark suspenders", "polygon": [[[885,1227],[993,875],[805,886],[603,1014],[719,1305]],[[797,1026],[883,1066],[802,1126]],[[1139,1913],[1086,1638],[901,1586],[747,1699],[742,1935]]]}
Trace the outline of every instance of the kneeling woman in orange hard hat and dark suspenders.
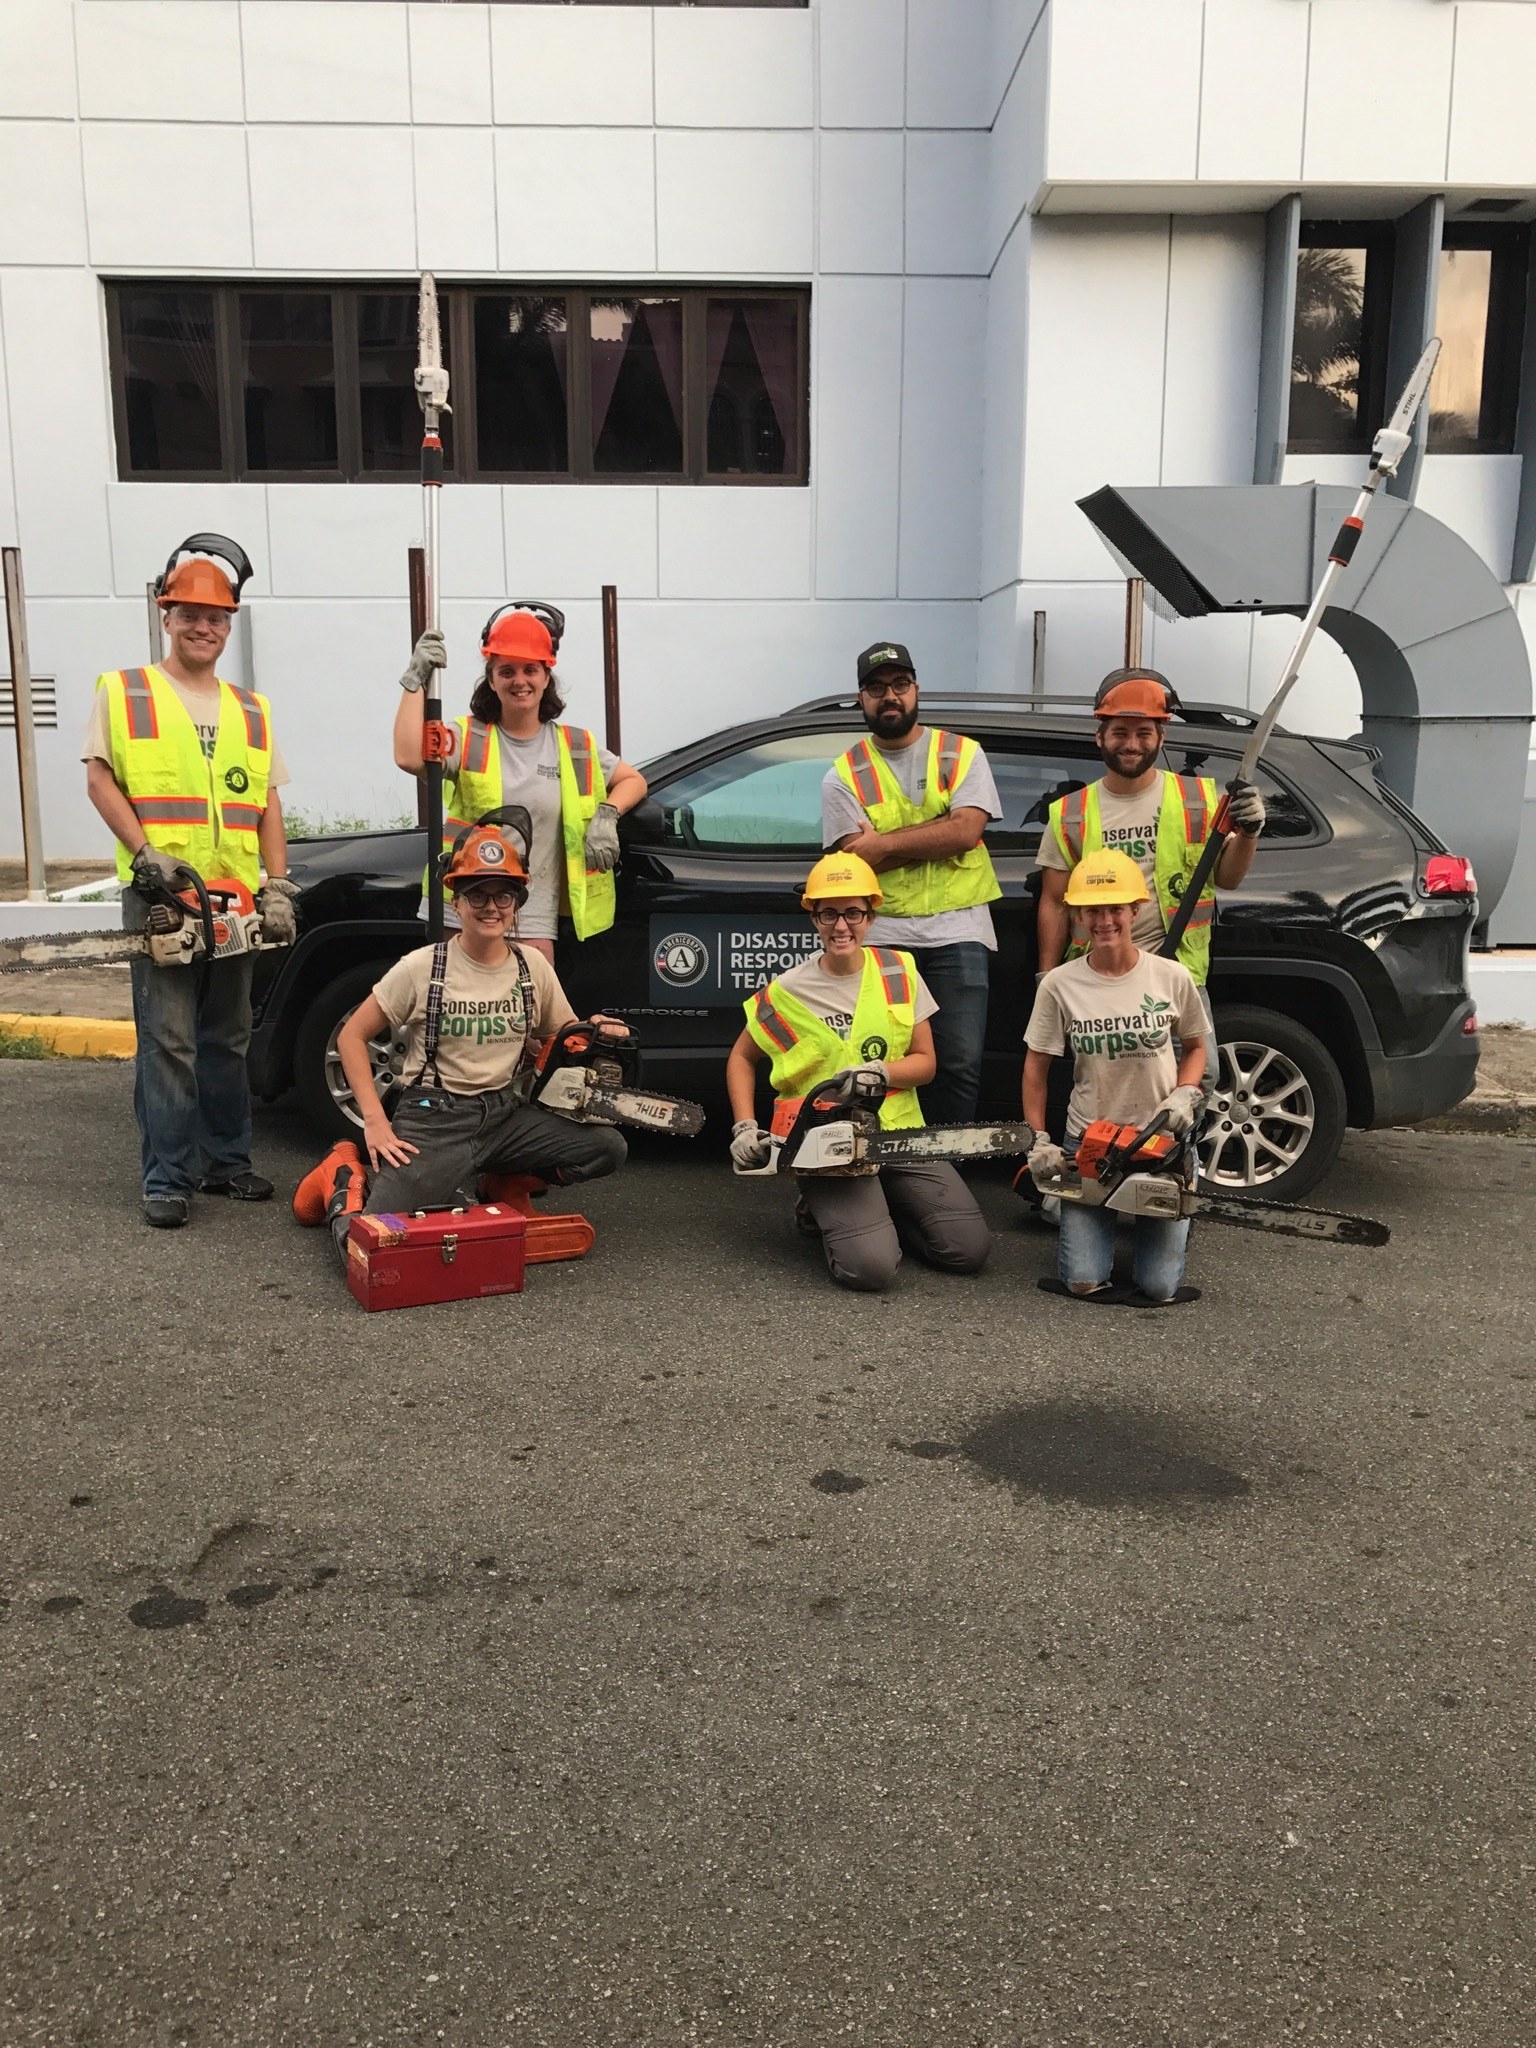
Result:
{"label": "kneeling woman in orange hard hat and dark suspenders", "polygon": [[[293,1196],[299,1223],[330,1223],[342,1266],[350,1219],[362,1208],[408,1212],[473,1202],[483,1176],[569,1186],[625,1163],[625,1141],[610,1124],[578,1124],[512,1087],[524,1051],[575,1022],[555,969],[514,936],[528,895],[516,842],[489,825],[467,831],[444,881],[459,930],[440,946],[395,961],[336,1040],[362,1112],[373,1186],[356,1145],[344,1141]],[[625,1030],[616,1018],[596,1016],[592,1024]],[[403,1071],[414,1075],[393,1116],[379,1100],[369,1059],[369,1040],[391,1026],[408,1032]],[[506,1192],[487,1190],[492,1198]]]}

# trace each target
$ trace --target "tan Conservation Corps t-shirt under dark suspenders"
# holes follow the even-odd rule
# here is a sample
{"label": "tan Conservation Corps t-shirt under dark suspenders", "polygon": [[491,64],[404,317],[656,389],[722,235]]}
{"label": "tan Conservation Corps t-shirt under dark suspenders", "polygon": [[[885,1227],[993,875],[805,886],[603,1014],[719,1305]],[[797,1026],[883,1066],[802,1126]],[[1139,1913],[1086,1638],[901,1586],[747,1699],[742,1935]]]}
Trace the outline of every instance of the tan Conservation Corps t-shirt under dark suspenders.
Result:
{"label": "tan Conservation Corps t-shirt under dark suspenders", "polygon": [[[483,1096],[506,1087],[522,1059],[528,1036],[549,1038],[575,1012],[549,961],[526,948],[532,985],[532,1018],[524,1016],[518,963],[506,958],[481,967],[459,940],[449,942],[449,973],[442,981],[442,1028],[438,1032],[438,1085],[451,1096]],[[432,946],[418,946],[395,961],[373,997],[389,1022],[408,1034],[401,1073],[416,1079],[426,1049],[426,991],[432,983]]]}

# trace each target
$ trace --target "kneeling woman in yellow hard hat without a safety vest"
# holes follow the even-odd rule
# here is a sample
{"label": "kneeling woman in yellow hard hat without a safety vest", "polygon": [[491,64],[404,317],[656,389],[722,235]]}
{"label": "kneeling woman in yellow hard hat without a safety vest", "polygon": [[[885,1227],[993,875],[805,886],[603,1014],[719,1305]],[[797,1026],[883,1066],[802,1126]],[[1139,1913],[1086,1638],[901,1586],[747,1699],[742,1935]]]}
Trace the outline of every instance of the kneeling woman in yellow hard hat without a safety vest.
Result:
{"label": "kneeling woman in yellow hard hat without a safety vest", "polygon": [[[1147,881],[1128,854],[1085,854],[1067,881],[1067,903],[1087,926],[1087,952],[1042,977],[1024,1032],[1024,1122],[1034,1130],[1028,1169],[1036,1188],[1057,1180],[1090,1124],[1108,1118],[1141,1128],[1163,1110],[1167,1130],[1184,1135],[1204,1106],[1200,991],[1188,967],[1130,942],[1135,907],[1145,901]],[[1044,1128],[1047,1073],[1059,1053],[1073,1057],[1065,1149]],[[1188,1219],[1137,1217],[1133,1227],[1135,1288],[1126,1294],[1110,1286],[1114,1212],[1063,1202],[1059,1278],[1040,1286],[1128,1307],[1194,1298],[1194,1288],[1180,1286]]]}

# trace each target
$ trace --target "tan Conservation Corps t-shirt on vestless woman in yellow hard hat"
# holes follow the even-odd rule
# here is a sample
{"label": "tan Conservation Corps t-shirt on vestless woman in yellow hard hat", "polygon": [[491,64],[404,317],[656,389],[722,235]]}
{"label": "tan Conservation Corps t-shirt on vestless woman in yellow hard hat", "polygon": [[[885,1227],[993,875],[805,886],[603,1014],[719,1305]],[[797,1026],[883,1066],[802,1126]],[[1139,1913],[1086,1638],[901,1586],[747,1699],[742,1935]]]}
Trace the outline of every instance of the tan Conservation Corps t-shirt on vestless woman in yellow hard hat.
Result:
{"label": "tan Conservation Corps t-shirt on vestless woman in yellow hard hat", "polygon": [[1100,1116],[1145,1124],[1178,1085],[1174,1038],[1188,1044],[1208,1028],[1200,989],[1180,961],[1139,952],[1128,975],[1100,975],[1083,956],[1040,981],[1024,1044],[1071,1051],[1067,1137],[1079,1139]]}

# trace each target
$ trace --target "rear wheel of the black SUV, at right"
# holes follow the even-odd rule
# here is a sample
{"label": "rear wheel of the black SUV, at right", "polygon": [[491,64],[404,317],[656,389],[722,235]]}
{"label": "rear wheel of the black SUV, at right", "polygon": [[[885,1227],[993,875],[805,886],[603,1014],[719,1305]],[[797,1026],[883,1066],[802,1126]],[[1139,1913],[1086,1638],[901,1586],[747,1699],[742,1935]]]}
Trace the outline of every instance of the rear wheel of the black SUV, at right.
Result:
{"label": "rear wheel of the black SUV, at right", "polygon": [[1343,1143],[1343,1079],[1321,1038],[1278,1010],[1217,1012],[1221,1073],[1200,1137],[1200,1184],[1294,1202]]}

